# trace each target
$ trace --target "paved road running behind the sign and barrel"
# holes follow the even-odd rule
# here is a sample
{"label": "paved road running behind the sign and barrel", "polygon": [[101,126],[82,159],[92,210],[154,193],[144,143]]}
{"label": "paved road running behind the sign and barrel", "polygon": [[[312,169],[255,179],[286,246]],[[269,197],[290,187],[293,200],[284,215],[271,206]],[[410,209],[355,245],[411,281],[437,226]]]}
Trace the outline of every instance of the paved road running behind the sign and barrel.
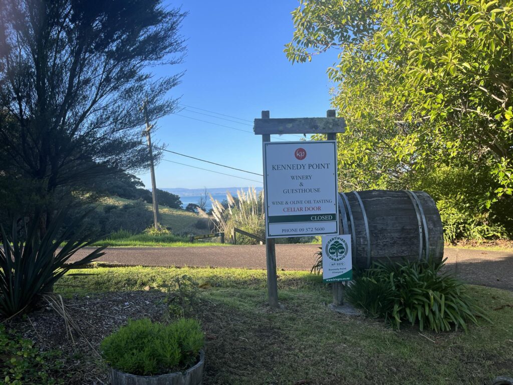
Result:
{"label": "paved road running behind the sign and barrel", "polygon": [[[310,270],[314,244],[276,245],[278,269]],[[80,254],[86,253],[82,250]],[[77,257],[80,256],[77,255]],[[513,290],[513,252],[446,248],[446,269],[469,283]],[[265,268],[265,246],[112,247],[102,262],[144,266]]]}

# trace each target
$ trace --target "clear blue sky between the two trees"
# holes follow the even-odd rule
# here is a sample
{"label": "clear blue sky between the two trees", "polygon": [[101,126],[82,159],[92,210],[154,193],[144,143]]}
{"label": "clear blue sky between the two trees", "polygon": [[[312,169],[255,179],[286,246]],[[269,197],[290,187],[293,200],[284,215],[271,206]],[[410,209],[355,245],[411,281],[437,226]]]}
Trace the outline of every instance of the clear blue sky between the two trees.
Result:
{"label": "clear blue sky between the two trees", "polygon": [[[169,5],[180,4],[169,2]],[[187,39],[185,61],[181,65],[160,67],[154,73],[159,76],[186,71],[182,84],[170,92],[172,97],[181,98],[185,109],[157,122],[153,142],[165,143],[172,151],[261,173],[262,140],[252,133],[251,122],[260,118],[262,110],[270,110],[271,118],[325,117],[330,108],[329,89],[333,86],[326,69],[336,61],[337,53],[327,52],[306,64],[292,65],[286,59],[284,44],[291,40],[293,32],[290,12],[298,5],[296,0],[194,1],[183,5],[182,9],[189,12],[181,30]],[[244,120],[222,117],[198,108]],[[299,140],[290,136],[282,138]],[[261,180],[255,175],[171,153],[165,153],[164,158]],[[149,171],[139,177],[147,188],[151,187]],[[155,178],[159,188],[262,186],[259,182],[168,161],[161,161],[156,166]]]}

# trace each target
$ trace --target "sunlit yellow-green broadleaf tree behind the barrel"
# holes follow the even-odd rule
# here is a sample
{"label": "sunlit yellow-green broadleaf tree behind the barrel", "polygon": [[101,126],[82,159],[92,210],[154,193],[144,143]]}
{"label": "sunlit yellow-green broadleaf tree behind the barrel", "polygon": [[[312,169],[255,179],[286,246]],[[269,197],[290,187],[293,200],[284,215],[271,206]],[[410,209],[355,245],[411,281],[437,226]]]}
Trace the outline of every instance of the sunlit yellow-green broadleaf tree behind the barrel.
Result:
{"label": "sunlit yellow-green broadleaf tree behind the barrel", "polygon": [[513,2],[302,0],[292,15],[290,61],[340,50],[342,188],[436,190],[445,169],[460,201],[510,220]]}

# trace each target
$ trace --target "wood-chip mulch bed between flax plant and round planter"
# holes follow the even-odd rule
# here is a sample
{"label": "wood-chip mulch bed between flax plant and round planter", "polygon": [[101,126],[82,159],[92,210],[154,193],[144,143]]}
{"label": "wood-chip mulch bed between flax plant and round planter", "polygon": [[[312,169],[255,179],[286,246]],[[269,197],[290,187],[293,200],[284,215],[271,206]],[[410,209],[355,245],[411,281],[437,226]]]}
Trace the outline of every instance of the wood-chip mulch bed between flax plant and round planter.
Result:
{"label": "wood-chip mulch bed between flax plant and round planter", "polygon": [[83,335],[76,331],[70,335],[64,318],[49,306],[7,321],[6,326],[43,350],[62,351],[65,370],[73,374],[66,383],[107,384],[110,377],[98,355],[100,342],[130,318],[161,320],[167,312],[166,296],[160,291],[139,291],[64,298],[69,316]]}

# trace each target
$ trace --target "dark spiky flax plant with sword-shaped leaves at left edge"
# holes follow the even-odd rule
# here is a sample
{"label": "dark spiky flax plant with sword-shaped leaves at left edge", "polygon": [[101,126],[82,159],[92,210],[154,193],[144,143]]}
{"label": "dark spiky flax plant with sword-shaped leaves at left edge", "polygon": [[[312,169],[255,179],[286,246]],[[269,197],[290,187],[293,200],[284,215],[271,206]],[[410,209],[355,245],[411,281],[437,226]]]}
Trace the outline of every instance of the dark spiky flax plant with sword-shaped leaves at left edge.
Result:
{"label": "dark spiky flax plant with sword-shaped leaves at left edge", "polygon": [[[66,272],[104,254],[105,247],[100,247],[76,262],[67,263],[78,250],[95,240],[91,239],[91,234],[81,231],[80,223],[86,215],[62,229],[66,215],[66,211],[61,211],[43,237],[39,220],[29,223],[25,239],[18,238],[16,222],[10,239],[0,225],[3,242],[0,247],[0,316],[12,317],[30,311]],[[64,245],[61,247],[61,244]]]}

